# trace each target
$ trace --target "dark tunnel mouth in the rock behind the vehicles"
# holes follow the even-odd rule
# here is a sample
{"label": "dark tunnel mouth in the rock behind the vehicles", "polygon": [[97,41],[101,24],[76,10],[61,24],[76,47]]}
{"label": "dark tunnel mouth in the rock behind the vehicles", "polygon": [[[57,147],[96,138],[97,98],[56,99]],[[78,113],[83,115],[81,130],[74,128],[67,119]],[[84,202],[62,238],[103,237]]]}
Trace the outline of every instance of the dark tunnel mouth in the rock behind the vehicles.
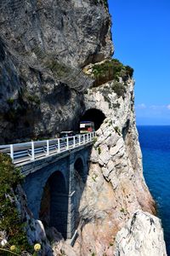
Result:
{"label": "dark tunnel mouth in the rock behind the vehicles", "polygon": [[105,119],[105,113],[97,108],[88,109],[82,116],[81,121],[91,121],[94,122],[95,131],[97,131],[102,125]]}

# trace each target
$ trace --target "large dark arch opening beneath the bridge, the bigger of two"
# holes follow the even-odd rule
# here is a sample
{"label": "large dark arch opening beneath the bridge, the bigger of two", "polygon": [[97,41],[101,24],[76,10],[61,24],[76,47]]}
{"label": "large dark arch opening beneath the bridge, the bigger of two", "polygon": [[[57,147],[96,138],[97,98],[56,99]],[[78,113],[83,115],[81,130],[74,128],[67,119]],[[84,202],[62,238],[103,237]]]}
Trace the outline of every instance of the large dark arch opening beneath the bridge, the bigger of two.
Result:
{"label": "large dark arch opening beneath the bridge, the bigger of two", "polygon": [[56,228],[67,236],[68,193],[61,172],[54,172],[43,189],[39,218],[45,227]]}

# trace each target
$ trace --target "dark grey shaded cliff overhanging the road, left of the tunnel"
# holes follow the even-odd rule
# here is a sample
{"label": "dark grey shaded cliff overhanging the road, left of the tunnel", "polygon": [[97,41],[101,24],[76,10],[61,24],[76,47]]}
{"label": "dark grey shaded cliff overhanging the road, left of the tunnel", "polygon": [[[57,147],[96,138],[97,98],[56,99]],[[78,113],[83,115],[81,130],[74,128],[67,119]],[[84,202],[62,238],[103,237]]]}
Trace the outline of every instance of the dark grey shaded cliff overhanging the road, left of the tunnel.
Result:
{"label": "dark grey shaded cliff overhanging the road, left of the tunnel", "polygon": [[0,143],[76,130],[93,83],[82,67],[113,52],[105,3],[14,0],[0,11]]}

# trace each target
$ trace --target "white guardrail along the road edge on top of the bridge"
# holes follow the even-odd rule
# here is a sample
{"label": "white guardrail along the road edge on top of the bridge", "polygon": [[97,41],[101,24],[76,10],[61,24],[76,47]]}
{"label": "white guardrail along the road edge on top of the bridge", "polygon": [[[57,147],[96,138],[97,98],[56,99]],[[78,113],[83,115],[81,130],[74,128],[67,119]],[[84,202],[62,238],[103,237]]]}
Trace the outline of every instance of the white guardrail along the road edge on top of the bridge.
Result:
{"label": "white guardrail along the road edge on top of the bridge", "polygon": [[67,150],[78,148],[82,145],[93,142],[94,137],[95,132],[89,132],[73,137],[0,145],[0,152],[9,154],[15,165],[24,165],[28,161],[42,159],[52,154],[60,154]]}

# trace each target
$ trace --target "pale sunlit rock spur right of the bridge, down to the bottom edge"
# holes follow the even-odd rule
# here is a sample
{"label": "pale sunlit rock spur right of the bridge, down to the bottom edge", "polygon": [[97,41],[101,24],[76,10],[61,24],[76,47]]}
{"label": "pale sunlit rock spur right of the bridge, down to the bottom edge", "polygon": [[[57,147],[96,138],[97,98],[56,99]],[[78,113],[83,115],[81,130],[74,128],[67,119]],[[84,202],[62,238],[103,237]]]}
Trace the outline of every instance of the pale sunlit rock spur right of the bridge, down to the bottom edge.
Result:
{"label": "pale sunlit rock spur right of the bridge, down to the bottom edge", "polygon": [[[97,140],[91,154],[89,176],[79,207],[81,216],[79,237],[74,248],[78,255],[95,253],[143,256],[149,252],[150,255],[155,255],[156,252],[156,255],[166,255],[163,254],[166,249],[161,223],[158,218],[150,214],[156,213],[155,202],[143,177],[142,156],[133,107],[134,82],[133,79],[127,79],[123,96],[117,96],[112,90],[114,83],[115,81],[111,81],[92,88],[86,95],[87,112],[90,109],[98,109],[105,114],[105,120],[96,131]],[[138,247],[139,235],[134,231],[133,241],[126,239],[120,243],[119,237],[124,233],[120,231],[122,236],[116,234],[119,230],[123,230],[126,223],[131,223],[129,219],[133,218],[134,212],[138,209],[137,216],[142,223],[139,225],[139,233],[142,237],[147,234],[147,238],[141,241],[142,244],[144,242],[144,246],[140,248],[139,254],[135,254],[133,247]],[[142,213],[142,210],[146,213]],[[155,236],[145,229],[149,217],[153,221],[156,219]],[[151,246],[152,243],[154,247]],[[144,248],[146,244],[147,253]],[[123,254],[124,247],[128,251]],[[156,251],[156,247],[160,249]]]}

